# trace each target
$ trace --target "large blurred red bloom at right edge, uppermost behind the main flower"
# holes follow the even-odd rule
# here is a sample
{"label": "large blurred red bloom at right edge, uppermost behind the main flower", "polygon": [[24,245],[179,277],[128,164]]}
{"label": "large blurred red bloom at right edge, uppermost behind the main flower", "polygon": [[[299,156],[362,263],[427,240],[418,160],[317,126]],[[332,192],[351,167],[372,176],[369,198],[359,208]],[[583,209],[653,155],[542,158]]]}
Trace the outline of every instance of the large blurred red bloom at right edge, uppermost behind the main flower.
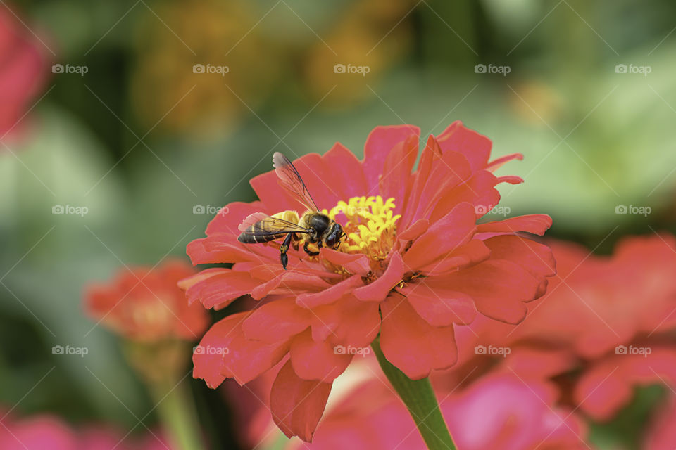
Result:
{"label": "large blurred red bloom at right edge, uppermost behind the main flower", "polygon": [[551,242],[558,276],[542,307],[513,338],[565,342],[587,359],[635,338],[676,328],[676,240],[625,238],[611,257],[589,256],[572,243]]}

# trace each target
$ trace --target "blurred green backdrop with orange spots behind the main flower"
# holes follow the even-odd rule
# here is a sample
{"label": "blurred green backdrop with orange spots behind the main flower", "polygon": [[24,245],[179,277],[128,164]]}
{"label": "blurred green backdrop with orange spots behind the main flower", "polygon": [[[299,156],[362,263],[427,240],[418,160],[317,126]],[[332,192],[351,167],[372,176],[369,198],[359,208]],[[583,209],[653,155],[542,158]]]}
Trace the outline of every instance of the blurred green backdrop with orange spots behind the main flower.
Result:
{"label": "blurred green backdrop with orange spots behind the main flower", "polygon": [[[82,287],[184,255],[215,208],[253,200],[247,181],[271,169],[273,151],[296,158],[340,141],[361,157],[377,125],[416,124],[427,136],[462,120],[493,140],[494,157],[525,155],[499,170],[525,179],[501,187],[501,206],[550,214],[549,236],[606,252],[627,233],[674,231],[672,1],[12,8],[49,61],[25,127],[0,148],[0,404],[22,413],[125,430],[146,416],[151,401],[115,338],[82,313]],[[53,214],[55,205],[88,212]],[[618,205],[651,213],[616,214]],[[89,354],[54,356],[54,345]],[[203,383],[193,389],[204,422],[229,442],[230,412]]]}

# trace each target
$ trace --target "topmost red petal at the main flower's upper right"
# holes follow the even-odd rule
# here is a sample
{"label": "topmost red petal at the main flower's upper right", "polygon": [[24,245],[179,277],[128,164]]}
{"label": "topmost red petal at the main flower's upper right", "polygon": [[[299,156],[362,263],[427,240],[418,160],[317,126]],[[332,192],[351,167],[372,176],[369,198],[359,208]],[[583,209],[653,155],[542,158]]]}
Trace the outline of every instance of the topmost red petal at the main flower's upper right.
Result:
{"label": "topmost red petal at the main flower's upper right", "polygon": [[439,134],[437,142],[444,153],[454,151],[465,155],[472,166],[472,171],[484,169],[488,165],[491,140],[472,129],[465,128],[463,122],[459,120]]}

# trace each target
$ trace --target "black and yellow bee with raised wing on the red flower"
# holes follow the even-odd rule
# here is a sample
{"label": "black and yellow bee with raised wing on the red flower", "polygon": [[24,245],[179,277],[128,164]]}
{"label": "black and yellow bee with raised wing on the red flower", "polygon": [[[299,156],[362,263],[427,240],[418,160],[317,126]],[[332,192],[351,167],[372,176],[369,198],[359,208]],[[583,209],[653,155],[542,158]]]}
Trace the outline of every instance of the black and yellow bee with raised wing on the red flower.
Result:
{"label": "black and yellow bee with raised wing on the red flower", "polygon": [[[342,226],[320,212],[289,158],[276,152],[273,155],[273,167],[279,177],[280,186],[291,193],[307,208],[307,211],[301,217],[295,211],[278,212],[272,216],[255,212],[239,225],[242,234],[237,240],[245,244],[258,244],[284,238],[280,245],[280,261],[284,270],[287,270],[289,262],[287,256],[289,246],[293,245],[294,249],[298,250],[300,241],[303,241],[303,250],[310,256],[319,255],[319,250],[323,246],[337,250],[340,239],[345,236]],[[317,251],[308,248],[310,244],[316,244]]]}

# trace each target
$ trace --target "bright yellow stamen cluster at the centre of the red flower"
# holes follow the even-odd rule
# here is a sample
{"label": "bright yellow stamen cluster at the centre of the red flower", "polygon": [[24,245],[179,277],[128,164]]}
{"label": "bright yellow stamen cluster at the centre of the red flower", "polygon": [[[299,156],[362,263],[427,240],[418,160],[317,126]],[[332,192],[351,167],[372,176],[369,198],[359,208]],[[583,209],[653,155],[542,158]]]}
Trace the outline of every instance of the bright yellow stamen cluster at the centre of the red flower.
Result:
{"label": "bright yellow stamen cluster at the centre of the red flower", "polygon": [[[394,245],[396,221],[394,198],[382,200],[380,195],[353,197],[347,202],[339,201],[326,212],[331,219],[343,224],[347,238],[339,250],[346,253],[364,253],[370,259],[385,259]],[[345,220],[342,220],[344,216]]]}

